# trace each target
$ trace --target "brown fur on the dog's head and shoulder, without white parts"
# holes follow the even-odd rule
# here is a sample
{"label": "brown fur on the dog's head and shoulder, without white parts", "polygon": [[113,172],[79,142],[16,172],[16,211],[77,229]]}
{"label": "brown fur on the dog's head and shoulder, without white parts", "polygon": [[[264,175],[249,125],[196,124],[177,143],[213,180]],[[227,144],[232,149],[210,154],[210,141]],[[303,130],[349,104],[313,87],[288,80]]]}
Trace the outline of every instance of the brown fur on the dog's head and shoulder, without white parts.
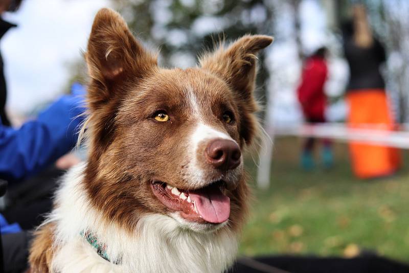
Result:
{"label": "brown fur on the dog's head and shoulder, without white parts", "polygon": [[[203,56],[198,68],[162,69],[156,55],[135,40],[118,13],[98,12],[86,52],[91,81],[86,122],[89,157],[83,185],[107,222],[132,233],[142,215],[169,213],[153,195],[152,179],[192,189],[186,143],[197,117],[187,106],[187,89],[195,93],[206,124],[230,134],[241,148],[252,143],[258,125],[253,97],[256,53],[271,41],[269,36],[246,35]],[[170,122],[152,121],[157,110],[166,110]],[[220,118],[225,110],[235,117],[231,124]],[[206,164],[201,167],[209,180],[220,175]],[[227,192],[231,198],[228,228],[238,231],[247,208],[244,174],[236,186]],[[51,235],[52,225],[46,225],[33,243],[30,263],[38,271],[50,265]]]}

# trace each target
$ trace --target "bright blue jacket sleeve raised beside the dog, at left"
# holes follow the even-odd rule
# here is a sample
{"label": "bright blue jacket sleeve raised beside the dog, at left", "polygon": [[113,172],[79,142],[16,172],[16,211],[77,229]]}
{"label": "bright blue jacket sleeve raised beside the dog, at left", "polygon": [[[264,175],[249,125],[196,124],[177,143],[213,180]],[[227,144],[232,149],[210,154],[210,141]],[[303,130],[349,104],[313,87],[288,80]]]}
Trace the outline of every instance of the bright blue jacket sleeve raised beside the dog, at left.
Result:
{"label": "bright blue jacket sleeve raised beside the dog, at left", "polygon": [[0,178],[13,184],[35,174],[70,151],[78,139],[84,87],[74,84],[38,118],[14,129],[0,124]]}

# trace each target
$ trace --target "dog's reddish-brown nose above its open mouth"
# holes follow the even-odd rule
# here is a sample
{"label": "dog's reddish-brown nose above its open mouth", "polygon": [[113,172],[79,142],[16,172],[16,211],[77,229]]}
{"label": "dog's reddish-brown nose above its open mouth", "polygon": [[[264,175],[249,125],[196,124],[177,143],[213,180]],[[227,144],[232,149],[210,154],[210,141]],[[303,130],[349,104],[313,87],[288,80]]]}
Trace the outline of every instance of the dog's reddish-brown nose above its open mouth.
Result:
{"label": "dog's reddish-brown nose above its open mouth", "polygon": [[231,140],[216,139],[205,151],[207,161],[216,169],[232,170],[240,164],[240,147]]}

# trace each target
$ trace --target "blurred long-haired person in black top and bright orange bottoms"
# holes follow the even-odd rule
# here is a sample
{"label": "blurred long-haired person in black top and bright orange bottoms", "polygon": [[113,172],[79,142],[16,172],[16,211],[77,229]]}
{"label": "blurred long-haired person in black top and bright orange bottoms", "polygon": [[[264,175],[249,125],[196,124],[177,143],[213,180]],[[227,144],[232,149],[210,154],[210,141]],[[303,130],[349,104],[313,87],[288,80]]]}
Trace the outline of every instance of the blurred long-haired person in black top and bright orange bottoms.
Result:
{"label": "blurred long-haired person in black top and bright orange bottoms", "polygon": [[[353,20],[343,26],[345,58],[350,67],[346,99],[349,104],[347,122],[380,125],[393,129],[394,120],[385,93],[385,82],[379,71],[385,61],[382,44],[373,36],[365,6],[353,6]],[[350,142],[352,169],[359,178],[377,178],[394,174],[400,165],[395,148]]]}

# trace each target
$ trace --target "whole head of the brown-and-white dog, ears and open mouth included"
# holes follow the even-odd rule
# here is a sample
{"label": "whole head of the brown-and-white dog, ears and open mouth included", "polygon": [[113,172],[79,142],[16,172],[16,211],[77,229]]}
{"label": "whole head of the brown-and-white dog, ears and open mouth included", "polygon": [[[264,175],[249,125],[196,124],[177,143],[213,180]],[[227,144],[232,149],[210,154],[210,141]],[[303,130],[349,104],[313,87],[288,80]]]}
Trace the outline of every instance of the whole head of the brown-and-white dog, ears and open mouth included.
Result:
{"label": "whole head of the brown-and-white dog, ears and open mouth included", "polygon": [[156,213],[196,231],[237,229],[247,194],[242,149],[258,127],[255,54],[271,41],[247,35],[198,67],[163,69],[118,13],[98,12],[86,52],[84,183],[108,220],[131,231]]}

